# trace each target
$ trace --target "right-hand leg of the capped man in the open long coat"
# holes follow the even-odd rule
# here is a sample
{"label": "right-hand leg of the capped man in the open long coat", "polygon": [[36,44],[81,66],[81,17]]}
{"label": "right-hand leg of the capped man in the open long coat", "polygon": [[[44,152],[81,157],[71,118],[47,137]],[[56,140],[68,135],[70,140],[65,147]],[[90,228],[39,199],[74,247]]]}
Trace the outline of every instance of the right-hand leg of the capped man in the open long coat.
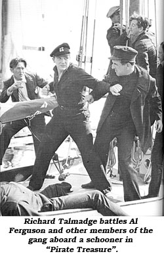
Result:
{"label": "right-hand leg of the capped man in the open long coat", "polygon": [[117,137],[118,160],[123,179],[124,200],[133,201],[140,199],[140,190],[137,181],[137,171],[131,161],[131,149],[136,134],[133,123],[127,123]]}

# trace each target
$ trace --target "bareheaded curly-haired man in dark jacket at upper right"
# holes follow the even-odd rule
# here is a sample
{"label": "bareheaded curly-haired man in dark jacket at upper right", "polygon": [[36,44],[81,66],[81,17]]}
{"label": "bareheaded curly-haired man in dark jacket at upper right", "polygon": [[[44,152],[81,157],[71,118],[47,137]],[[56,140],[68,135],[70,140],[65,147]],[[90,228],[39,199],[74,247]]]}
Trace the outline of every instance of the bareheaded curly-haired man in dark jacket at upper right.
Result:
{"label": "bareheaded curly-haired man in dark jacket at upper right", "polygon": [[157,51],[155,49],[155,35],[148,31],[149,21],[138,14],[130,17],[130,27],[122,33],[117,45],[133,47],[138,54],[136,64],[145,68],[155,78],[157,71]]}

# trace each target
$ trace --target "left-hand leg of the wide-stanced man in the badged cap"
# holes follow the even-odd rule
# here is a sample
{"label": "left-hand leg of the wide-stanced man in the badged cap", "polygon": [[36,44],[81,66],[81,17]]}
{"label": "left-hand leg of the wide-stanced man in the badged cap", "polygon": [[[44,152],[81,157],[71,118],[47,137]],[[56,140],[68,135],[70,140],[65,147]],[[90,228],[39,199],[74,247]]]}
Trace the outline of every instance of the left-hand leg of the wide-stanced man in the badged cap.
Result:
{"label": "left-hand leg of the wide-stanced man in the badged cap", "polygon": [[68,133],[64,130],[64,125],[53,116],[47,124],[45,134],[37,150],[33,173],[29,183],[31,189],[39,190],[41,188],[52,156],[67,136]]}

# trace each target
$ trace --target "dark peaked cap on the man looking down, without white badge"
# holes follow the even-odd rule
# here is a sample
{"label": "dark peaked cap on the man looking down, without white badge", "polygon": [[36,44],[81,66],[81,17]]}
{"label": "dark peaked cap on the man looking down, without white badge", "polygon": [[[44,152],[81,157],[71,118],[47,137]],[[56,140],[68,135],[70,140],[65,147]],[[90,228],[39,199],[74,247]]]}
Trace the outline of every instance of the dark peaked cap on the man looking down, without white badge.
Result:
{"label": "dark peaked cap on the man looking down, without white badge", "polygon": [[138,51],[128,46],[114,46],[113,55],[110,60],[127,60],[127,62],[134,62]]}

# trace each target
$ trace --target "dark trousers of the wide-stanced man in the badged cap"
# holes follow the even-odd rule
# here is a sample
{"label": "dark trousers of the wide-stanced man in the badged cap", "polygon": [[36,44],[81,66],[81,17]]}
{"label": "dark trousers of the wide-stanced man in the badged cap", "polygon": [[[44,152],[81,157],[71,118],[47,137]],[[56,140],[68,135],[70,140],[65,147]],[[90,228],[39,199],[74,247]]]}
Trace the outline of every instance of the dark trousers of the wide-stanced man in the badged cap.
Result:
{"label": "dark trousers of the wide-stanced man in the badged cap", "polygon": [[54,116],[47,124],[45,134],[39,145],[33,174],[30,179],[30,186],[35,190],[41,188],[54,152],[56,152],[68,135],[77,144],[81,152],[83,165],[89,173],[90,178],[93,180],[98,179],[99,181],[102,179],[103,186],[99,185],[96,188],[102,190],[104,189],[104,184],[106,184],[106,187],[110,186],[106,175],[101,170],[96,172],[94,169],[89,168],[89,156],[93,146],[89,116],[85,113],[78,114],[77,116],[65,116],[62,114],[62,110],[58,109],[54,111]]}

